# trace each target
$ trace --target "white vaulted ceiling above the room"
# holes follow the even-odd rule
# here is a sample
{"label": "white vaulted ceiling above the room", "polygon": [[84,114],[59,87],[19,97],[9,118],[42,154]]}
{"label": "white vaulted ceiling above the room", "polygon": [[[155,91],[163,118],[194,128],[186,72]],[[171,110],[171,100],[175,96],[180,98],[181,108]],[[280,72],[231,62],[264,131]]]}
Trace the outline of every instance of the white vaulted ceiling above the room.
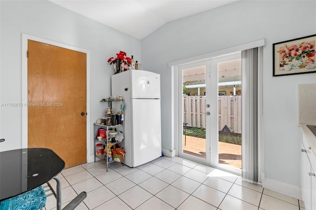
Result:
{"label": "white vaulted ceiling above the room", "polygon": [[164,24],[237,0],[49,0],[143,39]]}

